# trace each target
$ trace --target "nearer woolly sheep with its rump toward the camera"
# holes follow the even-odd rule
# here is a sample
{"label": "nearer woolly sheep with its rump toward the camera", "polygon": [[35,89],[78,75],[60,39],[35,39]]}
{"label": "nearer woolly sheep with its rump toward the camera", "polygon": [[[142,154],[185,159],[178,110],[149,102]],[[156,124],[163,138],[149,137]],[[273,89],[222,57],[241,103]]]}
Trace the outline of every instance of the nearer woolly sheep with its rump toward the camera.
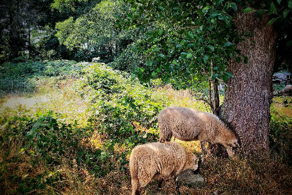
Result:
{"label": "nearer woolly sheep with its rump toward the camera", "polygon": [[175,177],[179,194],[177,176],[186,169],[197,170],[197,157],[176,142],[146,143],[136,146],[131,151],[129,169],[131,172],[132,195],[140,194],[151,180],[159,180],[159,188],[163,178]]}

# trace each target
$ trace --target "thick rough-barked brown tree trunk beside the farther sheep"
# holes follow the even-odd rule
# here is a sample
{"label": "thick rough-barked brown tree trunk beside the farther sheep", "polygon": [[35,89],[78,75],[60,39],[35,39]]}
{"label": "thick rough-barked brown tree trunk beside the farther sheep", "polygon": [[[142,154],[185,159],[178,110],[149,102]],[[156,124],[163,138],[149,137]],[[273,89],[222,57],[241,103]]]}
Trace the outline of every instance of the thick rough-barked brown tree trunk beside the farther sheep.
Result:
{"label": "thick rough-barked brown tree trunk beside the farther sheep", "polygon": [[248,57],[248,63],[234,59],[229,63],[234,76],[227,81],[224,116],[246,153],[268,149],[276,37],[268,21],[267,15],[254,17],[254,12],[238,11],[234,17],[239,33],[250,31],[254,36],[236,46]]}

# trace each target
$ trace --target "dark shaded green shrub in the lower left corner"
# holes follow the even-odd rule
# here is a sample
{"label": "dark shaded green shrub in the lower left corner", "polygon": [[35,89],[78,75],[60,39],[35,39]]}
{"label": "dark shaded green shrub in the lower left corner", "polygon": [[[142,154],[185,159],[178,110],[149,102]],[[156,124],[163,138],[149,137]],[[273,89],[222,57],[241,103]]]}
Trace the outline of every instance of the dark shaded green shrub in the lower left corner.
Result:
{"label": "dark shaded green shrub in the lower left corner", "polygon": [[[7,193],[26,194],[47,185],[54,187],[62,174],[58,166],[75,160],[96,176],[111,171],[104,148],[90,148],[83,140],[92,128],[60,123],[52,111],[36,116],[1,116],[0,148],[2,167],[0,185]],[[7,182],[8,181],[8,182]],[[8,192],[8,189],[13,189]]]}

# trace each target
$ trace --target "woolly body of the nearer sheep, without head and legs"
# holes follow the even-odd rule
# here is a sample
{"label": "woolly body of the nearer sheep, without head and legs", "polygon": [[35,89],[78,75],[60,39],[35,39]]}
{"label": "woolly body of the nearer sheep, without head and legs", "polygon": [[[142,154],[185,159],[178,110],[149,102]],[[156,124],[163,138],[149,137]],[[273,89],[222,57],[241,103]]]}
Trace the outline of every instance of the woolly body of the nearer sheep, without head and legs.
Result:
{"label": "woolly body of the nearer sheep, without head and legs", "polygon": [[136,167],[136,176],[141,186],[152,178],[165,178],[181,171],[186,163],[186,152],[179,143],[146,143],[132,150],[131,166]]}

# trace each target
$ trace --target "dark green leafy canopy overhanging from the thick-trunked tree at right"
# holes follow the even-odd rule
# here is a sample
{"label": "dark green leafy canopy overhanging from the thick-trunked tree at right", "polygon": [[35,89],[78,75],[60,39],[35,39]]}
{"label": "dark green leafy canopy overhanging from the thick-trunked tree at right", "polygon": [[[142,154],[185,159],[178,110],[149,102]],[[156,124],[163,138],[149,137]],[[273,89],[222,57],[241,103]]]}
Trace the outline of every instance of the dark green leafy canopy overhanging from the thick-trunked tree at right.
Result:
{"label": "dark green leafy canopy overhanging from the thick-trunked tree at right", "polygon": [[227,81],[232,77],[227,72],[230,59],[248,63],[235,46],[252,33],[236,31],[232,22],[236,11],[256,10],[255,17],[268,13],[273,18],[269,24],[273,24],[284,20],[291,10],[283,8],[280,1],[277,6],[273,1],[240,0],[127,2],[130,13],[122,26],[146,32],[136,41],[136,49],[147,56],[145,64],[136,68],[136,75],[144,81],[161,77],[179,87],[191,86],[202,77]]}

